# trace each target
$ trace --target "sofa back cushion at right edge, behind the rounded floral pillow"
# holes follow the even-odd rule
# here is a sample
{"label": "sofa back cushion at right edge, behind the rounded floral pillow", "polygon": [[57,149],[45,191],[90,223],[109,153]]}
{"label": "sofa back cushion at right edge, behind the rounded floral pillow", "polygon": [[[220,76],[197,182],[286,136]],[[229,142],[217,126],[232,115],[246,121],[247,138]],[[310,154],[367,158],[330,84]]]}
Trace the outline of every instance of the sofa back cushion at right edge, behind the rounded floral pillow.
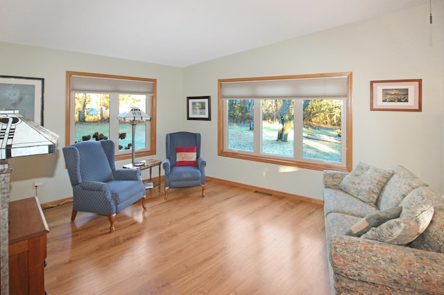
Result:
{"label": "sofa back cushion at right edge, behind the rounded floral pillow", "polygon": [[400,205],[403,208],[413,208],[425,203],[434,206],[432,222],[424,233],[409,244],[409,247],[444,253],[444,195],[429,186],[424,186],[409,193]]}

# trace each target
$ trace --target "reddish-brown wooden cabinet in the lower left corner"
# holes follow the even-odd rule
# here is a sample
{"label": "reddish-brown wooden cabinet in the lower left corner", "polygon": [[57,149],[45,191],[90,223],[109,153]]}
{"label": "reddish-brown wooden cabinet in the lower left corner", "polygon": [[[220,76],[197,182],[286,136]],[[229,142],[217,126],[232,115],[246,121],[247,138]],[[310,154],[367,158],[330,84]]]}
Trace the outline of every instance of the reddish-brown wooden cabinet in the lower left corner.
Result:
{"label": "reddish-brown wooden cabinet in the lower left corner", "polygon": [[9,203],[9,294],[45,294],[48,224],[37,197]]}

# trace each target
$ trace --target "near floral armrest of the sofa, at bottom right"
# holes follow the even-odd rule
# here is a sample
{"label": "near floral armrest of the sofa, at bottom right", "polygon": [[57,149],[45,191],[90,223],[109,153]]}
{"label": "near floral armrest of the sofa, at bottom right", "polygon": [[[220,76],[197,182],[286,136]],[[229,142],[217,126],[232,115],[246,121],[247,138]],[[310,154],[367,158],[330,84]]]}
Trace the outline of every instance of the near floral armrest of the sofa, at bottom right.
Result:
{"label": "near floral armrest of the sofa, at bottom right", "polygon": [[444,294],[444,253],[334,235],[330,241],[334,276],[419,294]]}

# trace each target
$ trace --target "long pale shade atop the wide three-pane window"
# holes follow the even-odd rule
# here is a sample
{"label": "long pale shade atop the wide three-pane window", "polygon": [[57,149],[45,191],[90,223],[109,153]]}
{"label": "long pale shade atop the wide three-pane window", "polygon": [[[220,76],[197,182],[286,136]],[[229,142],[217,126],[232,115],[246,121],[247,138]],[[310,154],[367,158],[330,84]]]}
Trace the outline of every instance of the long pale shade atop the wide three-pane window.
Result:
{"label": "long pale shade atop the wide three-pane window", "polygon": [[221,82],[221,98],[249,99],[348,99],[348,78],[301,78]]}

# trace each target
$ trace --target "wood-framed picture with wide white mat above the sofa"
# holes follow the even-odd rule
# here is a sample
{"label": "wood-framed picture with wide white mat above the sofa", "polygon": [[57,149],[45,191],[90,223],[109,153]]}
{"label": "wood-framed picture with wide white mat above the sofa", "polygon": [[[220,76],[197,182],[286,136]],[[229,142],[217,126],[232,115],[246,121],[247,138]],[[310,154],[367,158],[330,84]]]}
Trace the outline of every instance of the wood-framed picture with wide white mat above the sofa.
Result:
{"label": "wood-framed picture with wide white mat above the sofa", "polygon": [[421,111],[422,80],[370,81],[371,111]]}

